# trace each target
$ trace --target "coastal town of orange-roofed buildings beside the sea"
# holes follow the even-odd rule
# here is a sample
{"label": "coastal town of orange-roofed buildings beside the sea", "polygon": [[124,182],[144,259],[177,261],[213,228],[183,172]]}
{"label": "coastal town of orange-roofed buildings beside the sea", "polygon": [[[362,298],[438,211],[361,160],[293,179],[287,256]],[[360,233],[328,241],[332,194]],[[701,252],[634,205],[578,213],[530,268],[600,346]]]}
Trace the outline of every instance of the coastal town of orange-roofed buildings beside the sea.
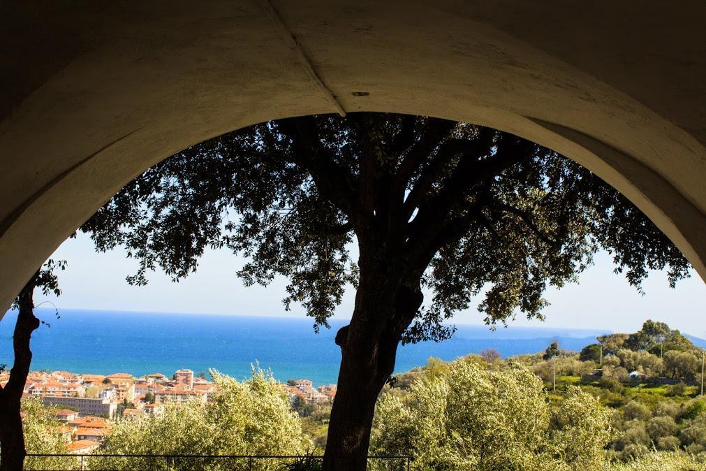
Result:
{"label": "coastal town of orange-roofed buildings beside the sea", "polygon": [[[0,386],[8,379],[8,372],[0,373]],[[333,403],[336,395],[335,384],[315,388],[309,379],[290,379],[277,386],[293,406]],[[190,369],[179,369],[171,377],[30,371],[23,399],[40,398],[61,422],[71,453],[89,454],[101,446],[116,420],[160,416],[168,405],[190,401],[205,404],[216,388],[205,373],[195,375]]]}

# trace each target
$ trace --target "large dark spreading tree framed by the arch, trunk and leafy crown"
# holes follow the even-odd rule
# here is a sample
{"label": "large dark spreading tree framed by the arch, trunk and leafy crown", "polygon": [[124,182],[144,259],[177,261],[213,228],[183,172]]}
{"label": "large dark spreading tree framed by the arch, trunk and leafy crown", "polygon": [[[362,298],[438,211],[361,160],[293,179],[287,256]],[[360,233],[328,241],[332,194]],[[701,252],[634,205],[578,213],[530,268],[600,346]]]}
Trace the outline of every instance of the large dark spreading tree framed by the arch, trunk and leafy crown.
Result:
{"label": "large dark spreading tree framed by the arch, trunk and leafy crown", "polygon": [[[373,410],[400,342],[443,340],[482,296],[489,324],[542,317],[604,248],[640,282],[688,263],[640,210],[574,162],[509,133],[429,117],[352,113],[270,121],[194,145],[129,183],[82,228],[124,245],[147,282],[196,270],[207,247],[249,258],[246,284],[288,278],[316,328],[356,287],[325,470],[364,470]],[[351,244],[358,258],[352,260]],[[424,290],[431,293],[424,303]]]}

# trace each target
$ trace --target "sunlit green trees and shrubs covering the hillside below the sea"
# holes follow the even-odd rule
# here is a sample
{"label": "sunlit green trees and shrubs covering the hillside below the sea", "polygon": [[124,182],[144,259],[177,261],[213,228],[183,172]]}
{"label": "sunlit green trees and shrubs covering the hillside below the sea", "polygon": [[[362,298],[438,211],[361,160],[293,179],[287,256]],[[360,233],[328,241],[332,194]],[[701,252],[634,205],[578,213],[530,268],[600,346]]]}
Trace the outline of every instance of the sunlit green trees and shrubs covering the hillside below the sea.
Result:
{"label": "sunlit green trees and shrubs covering the hillside below the sea", "polygon": [[[664,323],[597,338],[581,352],[556,342],[502,359],[487,350],[429,362],[393,376],[378,398],[373,455],[413,455],[414,471],[706,471],[702,350]],[[169,407],[162,417],[119,420],[103,453],[318,454],[330,405],[289,403],[271,374],[248,381],[213,371],[206,405]],[[37,402],[23,404],[30,451],[65,453],[61,427]],[[137,458],[92,458],[103,469],[150,467]],[[92,464],[91,464],[92,463]],[[30,458],[28,468],[76,467],[73,458]],[[283,470],[258,462],[253,469]],[[162,465],[160,463],[160,465]],[[243,460],[174,461],[173,470],[248,469]],[[315,460],[286,469],[316,470]],[[369,469],[383,471],[381,461]]]}

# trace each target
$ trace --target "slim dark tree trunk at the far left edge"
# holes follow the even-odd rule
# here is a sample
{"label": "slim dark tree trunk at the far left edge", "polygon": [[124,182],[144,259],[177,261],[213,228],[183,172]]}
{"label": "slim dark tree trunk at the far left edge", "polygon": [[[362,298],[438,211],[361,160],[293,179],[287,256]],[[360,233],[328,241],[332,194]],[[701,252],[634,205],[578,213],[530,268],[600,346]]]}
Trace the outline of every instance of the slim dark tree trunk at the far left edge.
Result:
{"label": "slim dark tree trunk at the far left edge", "polygon": [[15,360],[10,370],[10,379],[0,390],[0,471],[21,470],[27,454],[20,402],[32,362],[30,337],[40,326],[32,301],[36,279],[36,275],[32,277],[18,297],[19,314],[13,335]]}

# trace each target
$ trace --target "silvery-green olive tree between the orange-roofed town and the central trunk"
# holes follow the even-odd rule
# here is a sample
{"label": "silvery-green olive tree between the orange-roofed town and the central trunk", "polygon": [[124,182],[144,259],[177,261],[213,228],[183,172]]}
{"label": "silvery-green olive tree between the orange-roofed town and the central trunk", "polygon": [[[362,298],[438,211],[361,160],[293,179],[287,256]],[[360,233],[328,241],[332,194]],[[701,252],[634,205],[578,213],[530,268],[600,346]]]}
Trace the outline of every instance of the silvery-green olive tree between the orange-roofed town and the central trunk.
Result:
{"label": "silvery-green olive tree between the orange-roofed town and the central trunk", "polygon": [[[259,369],[247,381],[211,371],[217,387],[205,405],[167,405],[161,417],[119,420],[102,452],[146,455],[301,455],[311,447],[299,417],[272,375]],[[153,469],[151,458],[95,458],[99,469]],[[253,470],[281,470],[258,460]],[[174,470],[249,469],[247,459],[174,459]]]}

